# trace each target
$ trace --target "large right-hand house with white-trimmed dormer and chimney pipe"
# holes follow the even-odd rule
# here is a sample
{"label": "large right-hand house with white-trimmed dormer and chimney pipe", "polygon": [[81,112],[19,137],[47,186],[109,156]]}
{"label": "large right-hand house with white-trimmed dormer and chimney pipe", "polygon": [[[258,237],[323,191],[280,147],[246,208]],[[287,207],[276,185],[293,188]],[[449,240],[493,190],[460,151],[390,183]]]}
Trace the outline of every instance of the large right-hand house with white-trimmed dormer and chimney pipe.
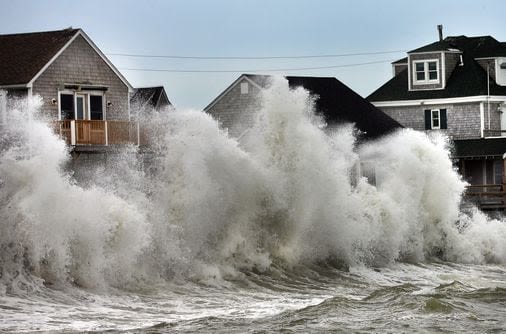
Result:
{"label": "large right-hand house with white-trimmed dormer and chimney pipe", "polygon": [[[367,99],[405,127],[443,132],[472,185],[506,183],[506,43],[449,36],[392,63]],[[504,178],[504,179],[503,179]]]}

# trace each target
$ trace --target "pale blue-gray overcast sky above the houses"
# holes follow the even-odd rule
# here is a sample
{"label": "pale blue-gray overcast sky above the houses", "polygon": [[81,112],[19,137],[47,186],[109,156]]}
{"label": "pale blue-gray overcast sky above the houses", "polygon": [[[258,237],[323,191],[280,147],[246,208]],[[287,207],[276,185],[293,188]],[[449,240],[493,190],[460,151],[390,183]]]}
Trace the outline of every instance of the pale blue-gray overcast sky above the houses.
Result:
{"label": "pale blue-gray overcast sky above the houses", "polygon": [[504,0],[0,0],[0,34],[82,28],[134,87],[163,85],[176,107],[201,109],[242,72],[378,62],[271,72],[336,77],[365,97],[391,77],[390,62],[404,57],[405,52],[271,60],[137,58],[110,54],[269,57],[410,50],[436,41],[438,24],[444,25],[445,36],[491,35],[506,41],[505,15]]}

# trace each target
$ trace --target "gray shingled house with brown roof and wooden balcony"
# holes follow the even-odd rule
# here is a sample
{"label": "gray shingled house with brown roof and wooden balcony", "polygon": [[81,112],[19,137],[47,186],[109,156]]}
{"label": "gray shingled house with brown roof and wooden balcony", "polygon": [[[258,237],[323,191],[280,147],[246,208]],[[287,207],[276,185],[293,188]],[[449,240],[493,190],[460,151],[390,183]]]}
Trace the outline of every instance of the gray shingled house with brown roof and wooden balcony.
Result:
{"label": "gray shingled house with brown roof and wooden balcony", "polygon": [[0,35],[2,90],[11,98],[40,95],[42,111],[74,150],[138,144],[133,87],[81,29]]}

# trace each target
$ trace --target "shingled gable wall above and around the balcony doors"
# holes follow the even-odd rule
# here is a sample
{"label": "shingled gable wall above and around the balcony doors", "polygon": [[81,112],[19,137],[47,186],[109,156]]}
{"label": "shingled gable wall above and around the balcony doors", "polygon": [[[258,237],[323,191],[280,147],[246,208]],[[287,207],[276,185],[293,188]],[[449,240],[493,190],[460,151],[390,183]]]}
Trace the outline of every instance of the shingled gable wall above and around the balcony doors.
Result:
{"label": "shingled gable wall above and around the balcony doors", "polygon": [[63,84],[108,87],[104,103],[110,101],[112,105],[106,107],[107,119],[128,119],[128,87],[82,36],[78,36],[33,83],[33,95],[43,97],[43,110],[54,118],[58,118],[58,105],[51,100],[58,100]]}

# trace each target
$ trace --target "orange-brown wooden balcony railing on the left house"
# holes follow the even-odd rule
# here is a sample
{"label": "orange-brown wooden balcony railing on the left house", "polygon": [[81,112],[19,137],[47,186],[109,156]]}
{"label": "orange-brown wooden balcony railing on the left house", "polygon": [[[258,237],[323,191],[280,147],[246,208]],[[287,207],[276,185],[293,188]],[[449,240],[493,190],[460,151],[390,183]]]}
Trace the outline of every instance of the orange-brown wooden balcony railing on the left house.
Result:
{"label": "orange-brown wooden balcony railing on the left house", "polygon": [[67,144],[139,145],[139,123],[130,121],[64,120],[55,122],[55,131]]}

